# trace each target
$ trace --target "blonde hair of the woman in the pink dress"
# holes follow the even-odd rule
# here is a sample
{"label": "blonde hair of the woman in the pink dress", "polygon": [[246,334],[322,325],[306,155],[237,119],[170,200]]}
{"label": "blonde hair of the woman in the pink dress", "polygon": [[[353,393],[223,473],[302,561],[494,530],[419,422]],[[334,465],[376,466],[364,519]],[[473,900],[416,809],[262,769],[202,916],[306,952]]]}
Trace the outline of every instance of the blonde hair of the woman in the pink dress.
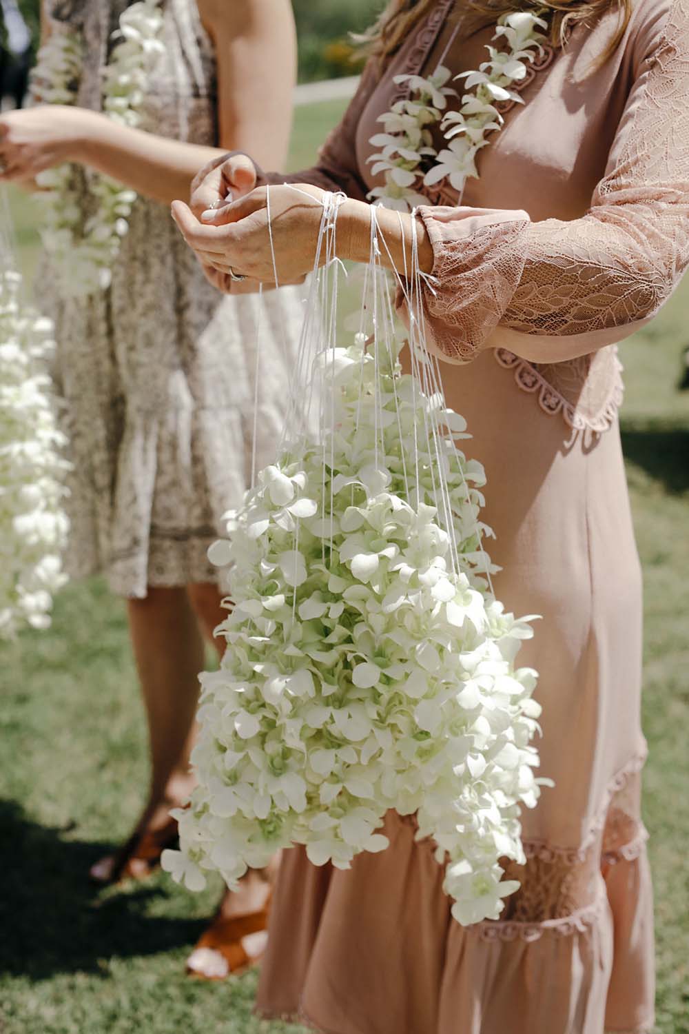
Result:
{"label": "blonde hair of the woman in the pink dress", "polygon": [[[415,27],[430,12],[437,0],[390,0],[378,21],[366,34],[370,53],[384,64],[400,49]],[[615,35],[595,62],[603,64],[624,36],[631,18],[631,0],[467,0],[467,9],[475,16],[476,27],[496,21],[515,10],[534,11],[549,18],[554,47],[562,47],[567,33],[581,23],[617,7],[620,19]]]}

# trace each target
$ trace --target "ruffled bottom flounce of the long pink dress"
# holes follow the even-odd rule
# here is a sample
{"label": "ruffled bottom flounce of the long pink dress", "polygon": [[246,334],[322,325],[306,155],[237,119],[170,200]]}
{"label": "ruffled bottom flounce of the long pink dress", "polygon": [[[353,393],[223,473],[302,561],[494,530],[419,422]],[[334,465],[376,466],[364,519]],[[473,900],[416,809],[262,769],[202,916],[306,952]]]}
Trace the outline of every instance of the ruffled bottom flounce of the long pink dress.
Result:
{"label": "ruffled bottom flounce of the long pink dress", "polygon": [[[652,1029],[645,858],[621,881],[613,870],[616,884],[601,880],[595,904],[564,919],[461,927],[441,866],[419,855],[409,824],[390,816],[386,832],[387,852],[344,874],[287,852],[259,1016],[320,1034],[601,1034],[605,1020],[621,1034],[639,1016],[633,1034]],[[406,974],[403,985],[396,974]]]}

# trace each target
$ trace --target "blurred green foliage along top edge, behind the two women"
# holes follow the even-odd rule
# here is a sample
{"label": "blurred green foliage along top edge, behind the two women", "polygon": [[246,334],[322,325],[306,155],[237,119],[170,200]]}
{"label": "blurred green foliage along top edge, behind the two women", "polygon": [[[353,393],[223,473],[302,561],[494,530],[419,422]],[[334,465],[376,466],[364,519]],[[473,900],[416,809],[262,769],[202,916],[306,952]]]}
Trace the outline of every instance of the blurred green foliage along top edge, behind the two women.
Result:
{"label": "blurred green foliage along top edge, behind the two women", "polygon": [[[292,0],[300,41],[301,83],[355,74],[361,67],[351,32],[363,32],[384,0]],[[38,37],[40,0],[18,0],[27,24]]]}

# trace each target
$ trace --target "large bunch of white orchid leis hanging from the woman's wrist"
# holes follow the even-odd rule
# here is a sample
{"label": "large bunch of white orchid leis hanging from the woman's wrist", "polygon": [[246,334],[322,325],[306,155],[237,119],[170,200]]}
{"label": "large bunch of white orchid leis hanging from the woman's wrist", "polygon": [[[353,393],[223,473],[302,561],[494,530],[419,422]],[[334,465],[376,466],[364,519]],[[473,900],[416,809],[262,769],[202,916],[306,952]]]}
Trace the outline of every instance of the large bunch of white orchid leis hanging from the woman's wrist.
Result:
{"label": "large bunch of white orchid leis hanging from the woman's wrist", "polygon": [[488,590],[483,470],[457,450],[463,419],[364,335],[320,358],[333,429],[267,467],[212,548],[234,609],[163,864],[191,889],[294,844],[347,869],[396,809],[435,840],[455,918],[497,918],[539,706],[514,666],[531,628]]}

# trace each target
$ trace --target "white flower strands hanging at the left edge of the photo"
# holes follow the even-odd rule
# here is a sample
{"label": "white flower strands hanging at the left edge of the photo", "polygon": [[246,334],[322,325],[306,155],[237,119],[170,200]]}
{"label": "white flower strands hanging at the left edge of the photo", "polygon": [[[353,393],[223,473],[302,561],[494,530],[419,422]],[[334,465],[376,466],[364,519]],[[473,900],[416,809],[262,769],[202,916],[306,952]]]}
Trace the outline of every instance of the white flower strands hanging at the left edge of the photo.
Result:
{"label": "white flower strands hanging at the left edge of the photo", "polygon": [[45,373],[53,326],[22,301],[19,273],[0,273],[0,636],[50,625],[66,581],[60,553],[67,463]]}

